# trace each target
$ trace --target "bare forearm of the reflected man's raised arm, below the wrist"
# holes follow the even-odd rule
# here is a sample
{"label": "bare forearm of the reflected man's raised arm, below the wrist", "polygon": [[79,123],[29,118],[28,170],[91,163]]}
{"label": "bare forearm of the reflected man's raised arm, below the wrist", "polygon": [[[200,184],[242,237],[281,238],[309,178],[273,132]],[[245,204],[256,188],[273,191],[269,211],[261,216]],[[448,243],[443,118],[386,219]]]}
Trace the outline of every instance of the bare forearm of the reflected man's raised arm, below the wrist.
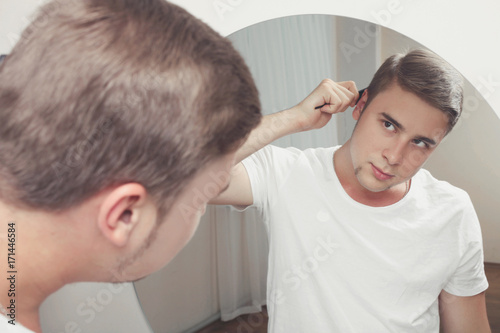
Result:
{"label": "bare forearm of the reflected man's raised arm, below the wrist", "polygon": [[302,131],[302,125],[294,108],[262,117],[262,121],[236,152],[236,163],[252,155],[271,142],[289,134]]}

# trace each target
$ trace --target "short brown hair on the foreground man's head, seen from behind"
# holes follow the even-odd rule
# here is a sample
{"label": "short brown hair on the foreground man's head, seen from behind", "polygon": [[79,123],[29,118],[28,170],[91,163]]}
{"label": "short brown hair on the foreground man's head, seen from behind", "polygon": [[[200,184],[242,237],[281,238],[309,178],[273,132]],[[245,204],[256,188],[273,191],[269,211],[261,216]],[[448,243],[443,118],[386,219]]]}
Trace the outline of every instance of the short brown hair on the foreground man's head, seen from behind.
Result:
{"label": "short brown hair on the foreground man's head, seen from behind", "polygon": [[232,44],[164,0],[57,0],[0,70],[0,197],[48,211],[142,184],[167,207],[260,122]]}

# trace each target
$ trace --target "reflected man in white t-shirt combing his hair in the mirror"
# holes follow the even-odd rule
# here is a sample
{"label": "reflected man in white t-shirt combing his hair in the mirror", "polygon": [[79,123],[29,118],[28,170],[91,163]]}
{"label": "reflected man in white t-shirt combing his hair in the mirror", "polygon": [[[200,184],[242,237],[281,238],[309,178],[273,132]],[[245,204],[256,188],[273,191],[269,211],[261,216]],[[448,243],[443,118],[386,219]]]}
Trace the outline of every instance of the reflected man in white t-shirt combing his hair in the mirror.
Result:
{"label": "reflected man in white t-shirt combing his hair in the mirror", "polygon": [[[270,332],[489,332],[472,203],[421,169],[461,113],[460,75],[415,50],[387,59],[358,97],[325,80],[265,116],[211,201],[264,215]],[[357,123],[341,147],[266,146],[349,106]]]}

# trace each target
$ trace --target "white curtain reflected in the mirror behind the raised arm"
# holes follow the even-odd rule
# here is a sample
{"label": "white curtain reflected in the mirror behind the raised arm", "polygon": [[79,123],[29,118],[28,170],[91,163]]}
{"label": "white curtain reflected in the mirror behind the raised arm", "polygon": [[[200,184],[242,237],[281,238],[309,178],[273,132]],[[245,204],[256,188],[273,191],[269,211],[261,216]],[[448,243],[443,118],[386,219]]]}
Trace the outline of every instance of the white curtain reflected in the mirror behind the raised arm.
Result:
{"label": "white curtain reflected in the mirror behind the raised arm", "polygon": [[[229,38],[250,67],[264,114],[289,108],[324,78],[336,79],[335,19],[303,15],[260,23]],[[338,144],[333,119],[321,130],[298,133],[273,144],[328,147]],[[216,221],[218,293],[222,320],[261,311],[266,300],[267,235],[255,209],[243,213],[220,206]]]}

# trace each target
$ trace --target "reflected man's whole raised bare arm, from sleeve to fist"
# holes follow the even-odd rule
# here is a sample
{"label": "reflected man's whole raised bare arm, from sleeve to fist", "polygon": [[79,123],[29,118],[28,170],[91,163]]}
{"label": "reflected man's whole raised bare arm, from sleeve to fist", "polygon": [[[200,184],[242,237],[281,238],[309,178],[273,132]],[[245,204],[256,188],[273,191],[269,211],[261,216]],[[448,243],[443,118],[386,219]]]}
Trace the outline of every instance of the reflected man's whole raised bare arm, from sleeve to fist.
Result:
{"label": "reflected man's whole raised bare arm, from sleeve to fist", "polygon": [[[298,105],[264,116],[261,124],[250,133],[246,142],[236,152],[236,165],[228,188],[210,201],[210,204],[251,205],[252,188],[241,161],[283,136],[325,126],[333,114],[354,106],[357,99],[358,90],[354,82],[336,83],[325,79]],[[319,106],[322,107],[317,108]]]}

